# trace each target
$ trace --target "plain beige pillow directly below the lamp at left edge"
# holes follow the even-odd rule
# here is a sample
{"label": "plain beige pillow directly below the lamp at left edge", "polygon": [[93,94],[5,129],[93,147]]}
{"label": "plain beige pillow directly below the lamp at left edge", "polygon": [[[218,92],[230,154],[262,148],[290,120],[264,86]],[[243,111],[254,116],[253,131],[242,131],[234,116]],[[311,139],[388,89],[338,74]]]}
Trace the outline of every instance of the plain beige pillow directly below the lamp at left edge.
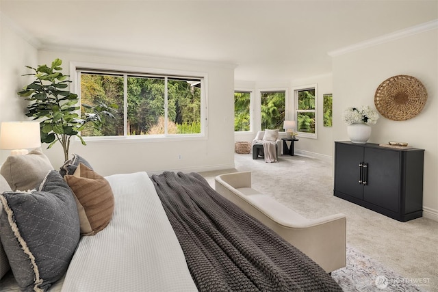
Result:
{"label": "plain beige pillow directly below the lamp at left edge", "polygon": [[49,159],[41,148],[27,155],[11,155],[1,165],[0,174],[4,176],[12,191],[27,191],[40,185],[47,172],[53,170]]}

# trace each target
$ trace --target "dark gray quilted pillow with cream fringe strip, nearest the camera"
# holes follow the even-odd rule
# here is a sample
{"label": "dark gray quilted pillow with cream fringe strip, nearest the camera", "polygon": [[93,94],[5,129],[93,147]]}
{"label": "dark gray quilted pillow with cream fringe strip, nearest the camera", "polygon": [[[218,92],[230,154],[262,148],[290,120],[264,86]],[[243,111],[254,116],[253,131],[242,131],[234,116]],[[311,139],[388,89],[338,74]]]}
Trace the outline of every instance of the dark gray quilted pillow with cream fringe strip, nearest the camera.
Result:
{"label": "dark gray quilted pillow with cream fringe strip, nearest the camera", "polygon": [[66,272],[79,242],[73,193],[51,170],[38,191],[0,194],[1,242],[22,291],[47,291]]}

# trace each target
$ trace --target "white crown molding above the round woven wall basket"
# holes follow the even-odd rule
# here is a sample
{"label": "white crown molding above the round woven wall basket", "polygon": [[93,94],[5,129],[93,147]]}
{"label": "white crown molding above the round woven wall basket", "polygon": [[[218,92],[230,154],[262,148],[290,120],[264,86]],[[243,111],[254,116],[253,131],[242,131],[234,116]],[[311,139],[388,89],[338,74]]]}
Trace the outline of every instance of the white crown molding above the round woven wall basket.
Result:
{"label": "white crown molding above the round woven wall basket", "polygon": [[420,25],[415,25],[415,26],[409,27],[407,29],[401,29],[398,31],[394,31],[391,34],[385,34],[385,35],[379,36],[377,38],[365,40],[364,42],[358,42],[357,44],[352,44],[352,45],[350,45],[348,47],[344,47],[342,49],[330,51],[327,54],[331,57],[336,57],[339,55],[344,55],[346,53],[359,51],[361,49],[365,49],[368,47],[373,47],[373,46],[376,46],[378,44],[383,44],[385,42],[391,42],[393,40],[398,40],[400,38],[406,38],[407,36],[421,34],[422,32],[430,31],[433,29],[438,29],[438,19],[435,19],[433,21],[428,21],[427,23],[422,23]]}

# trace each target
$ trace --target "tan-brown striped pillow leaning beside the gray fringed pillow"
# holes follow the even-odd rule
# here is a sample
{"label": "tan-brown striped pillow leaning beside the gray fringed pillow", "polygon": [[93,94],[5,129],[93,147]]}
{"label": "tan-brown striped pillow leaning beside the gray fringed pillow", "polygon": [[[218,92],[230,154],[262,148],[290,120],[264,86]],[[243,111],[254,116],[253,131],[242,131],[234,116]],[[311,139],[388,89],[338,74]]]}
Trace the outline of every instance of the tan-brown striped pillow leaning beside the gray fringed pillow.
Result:
{"label": "tan-brown striped pillow leaning beside the gray fringed pillow", "polygon": [[95,235],[103,230],[114,211],[110,183],[83,163],[79,163],[75,174],[64,176],[64,180],[77,198],[81,235]]}

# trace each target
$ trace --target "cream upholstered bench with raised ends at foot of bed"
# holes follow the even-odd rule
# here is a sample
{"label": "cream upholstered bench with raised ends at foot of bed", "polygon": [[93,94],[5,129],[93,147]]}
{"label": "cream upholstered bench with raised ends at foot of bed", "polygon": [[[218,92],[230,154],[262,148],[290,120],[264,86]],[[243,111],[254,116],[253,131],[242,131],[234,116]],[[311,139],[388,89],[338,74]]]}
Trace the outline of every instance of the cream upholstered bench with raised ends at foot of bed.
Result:
{"label": "cream upholstered bench with raised ends at foot of bed", "polygon": [[219,194],[274,230],[307,254],[326,272],[346,265],[346,216],[308,219],[251,187],[250,172],[222,174],[215,178]]}

